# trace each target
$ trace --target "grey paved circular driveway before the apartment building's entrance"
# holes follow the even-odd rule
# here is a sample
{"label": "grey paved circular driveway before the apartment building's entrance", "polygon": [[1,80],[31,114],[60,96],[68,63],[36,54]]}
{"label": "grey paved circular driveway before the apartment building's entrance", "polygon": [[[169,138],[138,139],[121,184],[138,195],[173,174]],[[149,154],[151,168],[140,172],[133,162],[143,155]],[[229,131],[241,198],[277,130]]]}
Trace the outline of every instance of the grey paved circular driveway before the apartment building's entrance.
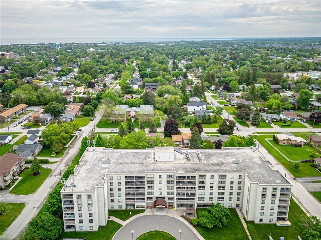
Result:
{"label": "grey paved circular driveway before the apartment building's entrance", "polygon": [[131,240],[132,230],[134,230],[134,239],[145,232],[155,230],[167,232],[176,239],[179,239],[179,229],[182,230],[181,240],[199,240],[184,222],[173,217],[157,214],[135,218],[120,228],[113,237],[113,240]]}

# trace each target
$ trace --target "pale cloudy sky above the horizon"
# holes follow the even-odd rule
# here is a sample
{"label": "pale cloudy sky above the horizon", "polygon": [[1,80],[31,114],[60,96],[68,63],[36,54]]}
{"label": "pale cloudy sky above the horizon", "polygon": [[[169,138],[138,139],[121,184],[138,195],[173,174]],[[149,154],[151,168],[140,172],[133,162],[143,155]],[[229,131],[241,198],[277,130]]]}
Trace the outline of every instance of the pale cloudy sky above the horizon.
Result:
{"label": "pale cloudy sky above the horizon", "polygon": [[1,38],[321,36],[320,0],[1,0]]}

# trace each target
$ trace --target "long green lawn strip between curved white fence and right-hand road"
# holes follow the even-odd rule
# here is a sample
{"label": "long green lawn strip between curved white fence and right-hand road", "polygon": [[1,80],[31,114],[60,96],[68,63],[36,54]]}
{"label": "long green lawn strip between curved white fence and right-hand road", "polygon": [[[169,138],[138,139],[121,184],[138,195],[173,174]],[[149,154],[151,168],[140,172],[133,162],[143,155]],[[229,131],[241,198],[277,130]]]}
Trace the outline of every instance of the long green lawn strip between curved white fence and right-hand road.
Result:
{"label": "long green lawn strip between curved white fence and right-hand road", "polygon": [[[289,162],[286,160],[278,151],[276,151],[270,144],[268,144],[265,139],[266,138],[273,138],[273,134],[271,135],[259,135],[254,136],[256,140],[278,161],[280,162],[288,171],[292,173],[294,177],[315,177],[321,176],[321,173],[317,171],[314,167],[310,166],[310,163],[300,163],[300,167],[295,169],[293,167],[294,163]],[[282,147],[287,146],[283,145]],[[292,147],[292,146],[289,146]],[[296,151],[297,148],[292,147],[292,151]],[[283,153],[285,155],[285,153]],[[294,153],[292,154],[292,156]],[[291,157],[292,157],[291,156]],[[302,158],[303,159],[303,158]]]}

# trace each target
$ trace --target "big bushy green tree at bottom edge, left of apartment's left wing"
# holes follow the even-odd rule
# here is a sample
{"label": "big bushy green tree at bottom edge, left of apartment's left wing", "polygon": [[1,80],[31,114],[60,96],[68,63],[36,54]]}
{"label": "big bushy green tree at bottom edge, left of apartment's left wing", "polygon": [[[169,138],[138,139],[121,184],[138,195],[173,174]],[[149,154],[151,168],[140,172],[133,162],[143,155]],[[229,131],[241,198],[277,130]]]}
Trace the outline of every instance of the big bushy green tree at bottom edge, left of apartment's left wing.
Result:
{"label": "big bushy green tree at bottom edge, left of apartment's left wing", "polygon": [[29,237],[27,239],[55,240],[62,233],[62,229],[62,220],[44,212],[29,222],[24,237]]}

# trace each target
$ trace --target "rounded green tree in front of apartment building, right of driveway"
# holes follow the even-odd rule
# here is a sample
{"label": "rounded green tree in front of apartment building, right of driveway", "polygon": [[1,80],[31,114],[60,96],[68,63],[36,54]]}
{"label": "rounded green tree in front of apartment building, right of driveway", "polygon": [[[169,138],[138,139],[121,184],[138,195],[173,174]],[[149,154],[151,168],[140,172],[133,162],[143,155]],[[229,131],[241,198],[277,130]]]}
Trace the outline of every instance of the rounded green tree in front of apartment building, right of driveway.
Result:
{"label": "rounded green tree in front of apartment building, right of driveway", "polygon": [[220,203],[212,203],[211,207],[198,212],[197,215],[198,223],[207,228],[226,226],[231,217],[230,210],[221,206]]}

